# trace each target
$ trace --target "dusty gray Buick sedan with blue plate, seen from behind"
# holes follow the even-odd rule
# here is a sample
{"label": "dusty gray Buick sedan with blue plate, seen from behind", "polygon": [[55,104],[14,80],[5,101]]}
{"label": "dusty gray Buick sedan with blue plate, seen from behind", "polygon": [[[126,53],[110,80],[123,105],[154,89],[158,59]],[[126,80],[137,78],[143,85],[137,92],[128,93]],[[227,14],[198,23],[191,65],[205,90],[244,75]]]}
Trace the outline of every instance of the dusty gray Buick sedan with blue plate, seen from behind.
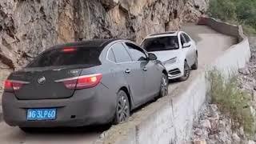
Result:
{"label": "dusty gray Buick sedan with blue plate, seen from behind", "polygon": [[124,122],[168,93],[166,69],[134,42],[103,39],[54,46],[7,78],[3,118],[22,130]]}

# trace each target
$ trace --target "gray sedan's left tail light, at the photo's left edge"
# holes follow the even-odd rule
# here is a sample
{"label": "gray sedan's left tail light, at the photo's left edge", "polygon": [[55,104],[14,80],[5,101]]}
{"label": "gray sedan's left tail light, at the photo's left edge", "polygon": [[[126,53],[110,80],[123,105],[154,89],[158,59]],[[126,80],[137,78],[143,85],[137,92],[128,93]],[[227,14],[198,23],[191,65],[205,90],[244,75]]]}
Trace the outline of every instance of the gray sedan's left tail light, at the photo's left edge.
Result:
{"label": "gray sedan's left tail light, at the photo's left edge", "polygon": [[6,80],[4,83],[4,90],[20,90],[23,85],[29,84],[30,82]]}

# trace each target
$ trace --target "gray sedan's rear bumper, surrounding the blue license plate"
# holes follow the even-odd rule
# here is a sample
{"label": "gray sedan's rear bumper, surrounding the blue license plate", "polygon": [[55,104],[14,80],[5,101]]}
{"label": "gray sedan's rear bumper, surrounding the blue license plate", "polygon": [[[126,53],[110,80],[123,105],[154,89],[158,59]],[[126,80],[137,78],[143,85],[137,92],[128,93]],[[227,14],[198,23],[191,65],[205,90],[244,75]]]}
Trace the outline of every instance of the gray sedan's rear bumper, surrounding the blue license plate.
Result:
{"label": "gray sedan's rear bumper, surrounding the blue license plate", "polygon": [[[5,92],[2,97],[3,118],[10,126],[59,127],[88,126],[111,122],[114,118],[116,100],[104,86],[100,90],[76,90],[74,96],[65,99],[18,100],[14,94]],[[26,120],[26,110],[33,108],[56,108],[55,120]]]}

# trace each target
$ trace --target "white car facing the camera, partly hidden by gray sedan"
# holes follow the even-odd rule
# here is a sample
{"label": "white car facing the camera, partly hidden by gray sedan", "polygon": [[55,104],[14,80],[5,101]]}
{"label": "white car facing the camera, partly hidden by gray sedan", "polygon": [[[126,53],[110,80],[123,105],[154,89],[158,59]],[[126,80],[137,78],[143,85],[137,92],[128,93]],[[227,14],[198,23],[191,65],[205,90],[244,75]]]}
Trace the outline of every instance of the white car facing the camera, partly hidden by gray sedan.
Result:
{"label": "white car facing the camera, partly hidden by gray sedan", "polygon": [[185,81],[190,77],[190,69],[198,69],[197,47],[183,31],[150,34],[142,41],[142,47],[157,55],[166,66],[169,79]]}

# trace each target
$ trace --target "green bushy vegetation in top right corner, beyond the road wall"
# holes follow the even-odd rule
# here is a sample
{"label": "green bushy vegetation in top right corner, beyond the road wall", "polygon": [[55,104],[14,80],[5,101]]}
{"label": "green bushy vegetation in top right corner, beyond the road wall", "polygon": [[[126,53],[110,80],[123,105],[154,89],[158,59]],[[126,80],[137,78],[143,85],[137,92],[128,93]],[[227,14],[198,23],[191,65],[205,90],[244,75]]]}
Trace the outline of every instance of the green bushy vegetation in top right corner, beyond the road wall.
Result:
{"label": "green bushy vegetation in top right corner, beyond the road wall", "polygon": [[242,24],[246,34],[256,34],[255,0],[210,0],[208,14],[225,22]]}

